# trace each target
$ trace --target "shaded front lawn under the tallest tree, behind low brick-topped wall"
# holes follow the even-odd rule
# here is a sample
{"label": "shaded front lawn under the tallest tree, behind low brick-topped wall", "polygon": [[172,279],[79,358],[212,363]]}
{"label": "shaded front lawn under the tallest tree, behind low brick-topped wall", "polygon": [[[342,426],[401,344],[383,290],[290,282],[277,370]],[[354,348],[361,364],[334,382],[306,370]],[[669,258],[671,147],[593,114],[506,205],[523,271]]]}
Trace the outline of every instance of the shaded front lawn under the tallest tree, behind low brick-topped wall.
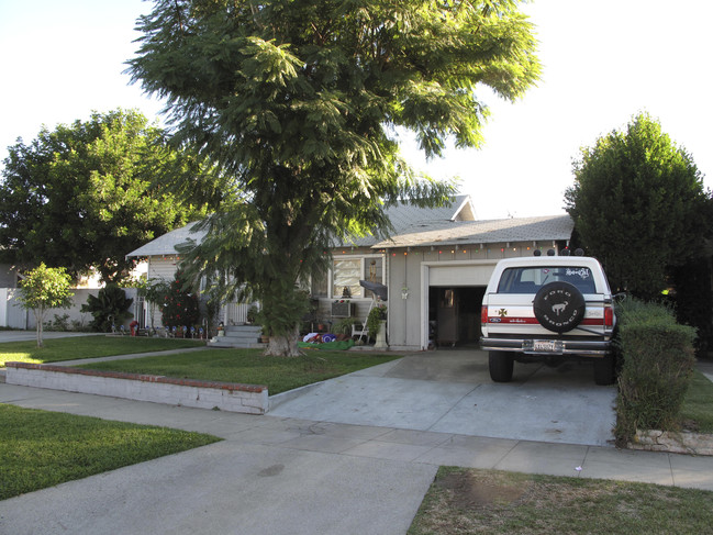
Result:
{"label": "shaded front lawn under the tallest tree, behind low brick-topped wall", "polygon": [[78,367],[180,379],[266,384],[272,395],[397,358],[401,356],[347,352],[309,352],[302,357],[287,358],[265,357],[261,349],[205,349]]}

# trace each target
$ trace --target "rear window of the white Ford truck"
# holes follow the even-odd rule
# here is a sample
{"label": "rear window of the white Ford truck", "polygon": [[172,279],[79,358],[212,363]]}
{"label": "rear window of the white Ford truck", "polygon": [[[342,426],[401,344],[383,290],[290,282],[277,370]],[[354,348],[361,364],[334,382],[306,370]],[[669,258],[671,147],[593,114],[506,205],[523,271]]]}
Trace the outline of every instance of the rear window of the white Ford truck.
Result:
{"label": "rear window of the white Ford truck", "polygon": [[592,271],[580,266],[508,268],[500,277],[498,293],[535,294],[543,286],[562,280],[576,286],[582,293],[597,293]]}

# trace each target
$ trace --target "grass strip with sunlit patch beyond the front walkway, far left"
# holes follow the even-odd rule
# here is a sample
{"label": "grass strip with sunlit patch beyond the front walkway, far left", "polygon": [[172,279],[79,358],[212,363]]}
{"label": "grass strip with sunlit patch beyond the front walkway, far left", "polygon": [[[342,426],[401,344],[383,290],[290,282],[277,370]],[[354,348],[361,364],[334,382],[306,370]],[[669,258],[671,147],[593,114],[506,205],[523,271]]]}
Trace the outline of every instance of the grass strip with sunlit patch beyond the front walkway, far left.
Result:
{"label": "grass strip with sunlit patch beyond the front walkway, far left", "polygon": [[109,357],[144,352],[197,347],[204,342],[142,336],[77,336],[45,339],[44,347],[35,341],[0,344],[0,366],[8,361],[47,364],[79,358]]}

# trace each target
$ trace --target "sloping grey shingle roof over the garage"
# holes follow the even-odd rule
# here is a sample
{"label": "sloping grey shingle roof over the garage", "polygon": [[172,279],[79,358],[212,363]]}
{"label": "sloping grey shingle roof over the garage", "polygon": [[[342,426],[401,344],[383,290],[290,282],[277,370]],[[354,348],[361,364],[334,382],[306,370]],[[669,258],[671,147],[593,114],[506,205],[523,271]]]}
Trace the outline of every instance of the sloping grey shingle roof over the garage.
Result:
{"label": "sloping grey shingle roof over the garage", "polygon": [[454,221],[447,224],[412,225],[374,245],[375,248],[415,247],[428,245],[490,244],[569,239],[575,223],[567,215],[513,218],[489,221]]}

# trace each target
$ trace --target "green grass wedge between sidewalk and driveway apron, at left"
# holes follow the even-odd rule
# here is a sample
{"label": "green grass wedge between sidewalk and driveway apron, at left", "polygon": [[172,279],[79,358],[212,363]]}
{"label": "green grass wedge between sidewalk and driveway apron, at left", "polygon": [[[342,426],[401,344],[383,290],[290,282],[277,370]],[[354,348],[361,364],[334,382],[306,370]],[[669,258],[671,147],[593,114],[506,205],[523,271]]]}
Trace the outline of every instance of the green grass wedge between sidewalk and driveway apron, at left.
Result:
{"label": "green grass wedge between sidewalk and driveway apron, at left", "polygon": [[0,500],[220,438],[0,404]]}

